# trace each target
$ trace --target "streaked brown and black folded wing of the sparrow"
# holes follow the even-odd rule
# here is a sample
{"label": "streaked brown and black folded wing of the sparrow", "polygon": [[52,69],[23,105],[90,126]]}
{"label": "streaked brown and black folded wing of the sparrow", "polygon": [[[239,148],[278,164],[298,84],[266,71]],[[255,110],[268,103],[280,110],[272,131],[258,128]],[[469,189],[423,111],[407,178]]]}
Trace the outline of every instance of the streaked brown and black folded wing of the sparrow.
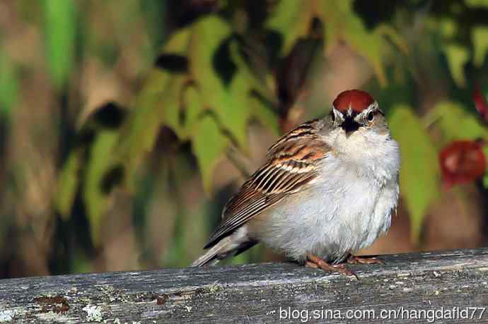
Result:
{"label": "streaked brown and black folded wing of the sparrow", "polygon": [[298,126],[269,148],[267,163],[252,174],[223,208],[222,222],[205,248],[315,179],[316,161],[329,152],[327,145],[318,140],[318,123],[321,121]]}

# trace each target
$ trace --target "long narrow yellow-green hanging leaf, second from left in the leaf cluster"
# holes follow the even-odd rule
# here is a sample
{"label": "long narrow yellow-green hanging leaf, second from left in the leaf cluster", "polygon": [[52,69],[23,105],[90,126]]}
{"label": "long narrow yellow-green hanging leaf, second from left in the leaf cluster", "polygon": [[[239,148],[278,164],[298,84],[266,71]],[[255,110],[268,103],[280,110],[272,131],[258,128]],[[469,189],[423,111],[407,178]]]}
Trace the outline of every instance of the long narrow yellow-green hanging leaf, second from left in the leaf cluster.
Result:
{"label": "long narrow yellow-green hanging leaf, second from left in the leaf cluster", "polygon": [[100,131],[90,148],[90,160],[86,166],[83,184],[83,201],[90,223],[94,246],[100,244],[100,225],[108,207],[108,194],[103,190],[103,179],[115,161],[112,150],[117,143],[117,131]]}

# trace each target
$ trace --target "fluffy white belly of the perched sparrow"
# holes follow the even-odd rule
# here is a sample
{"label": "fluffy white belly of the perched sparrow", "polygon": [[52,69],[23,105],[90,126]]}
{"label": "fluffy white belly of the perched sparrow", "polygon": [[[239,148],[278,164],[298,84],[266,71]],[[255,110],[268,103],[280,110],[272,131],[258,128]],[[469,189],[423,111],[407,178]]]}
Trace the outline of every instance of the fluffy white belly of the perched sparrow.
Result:
{"label": "fluffy white belly of the perched sparrow", "polygon": [[313,253],[340,262],[385,233],[397,203],[396,175],[383,181],[333,160],[328,165],[325,181],[275,205],[250,234],[298,261]]}

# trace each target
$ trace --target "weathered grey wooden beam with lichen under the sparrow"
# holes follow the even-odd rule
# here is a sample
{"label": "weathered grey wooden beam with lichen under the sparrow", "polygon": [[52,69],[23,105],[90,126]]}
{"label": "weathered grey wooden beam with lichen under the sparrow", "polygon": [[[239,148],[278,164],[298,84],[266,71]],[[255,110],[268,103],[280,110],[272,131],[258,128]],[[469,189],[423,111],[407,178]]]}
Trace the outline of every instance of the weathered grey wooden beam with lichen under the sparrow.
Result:
{"label": "weathered grey wooden beam with lichen under the sparrow", "polygon": [[488,248],[381,258],[359,280],[293,263],[0,280],[0,323],[488,322]]}

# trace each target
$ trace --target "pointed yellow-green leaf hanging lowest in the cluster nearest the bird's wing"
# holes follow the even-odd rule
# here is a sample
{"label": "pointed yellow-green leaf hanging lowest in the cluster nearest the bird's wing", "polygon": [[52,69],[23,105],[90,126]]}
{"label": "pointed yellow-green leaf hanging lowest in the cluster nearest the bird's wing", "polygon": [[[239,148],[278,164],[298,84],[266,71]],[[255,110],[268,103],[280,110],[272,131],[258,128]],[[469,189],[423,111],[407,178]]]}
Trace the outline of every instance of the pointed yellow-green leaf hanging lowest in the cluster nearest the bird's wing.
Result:
{"label": "pointed yellow-green leaf hanging lowest in the cluster nearest the bird's wing", "polygon": [[211,192],[212,177],[217,159],[223,155],[228,145],[228,138],[223,136],[215,119],[206,114],[194,129],[192,148],[197,157],[202,181],[207,193]]}

